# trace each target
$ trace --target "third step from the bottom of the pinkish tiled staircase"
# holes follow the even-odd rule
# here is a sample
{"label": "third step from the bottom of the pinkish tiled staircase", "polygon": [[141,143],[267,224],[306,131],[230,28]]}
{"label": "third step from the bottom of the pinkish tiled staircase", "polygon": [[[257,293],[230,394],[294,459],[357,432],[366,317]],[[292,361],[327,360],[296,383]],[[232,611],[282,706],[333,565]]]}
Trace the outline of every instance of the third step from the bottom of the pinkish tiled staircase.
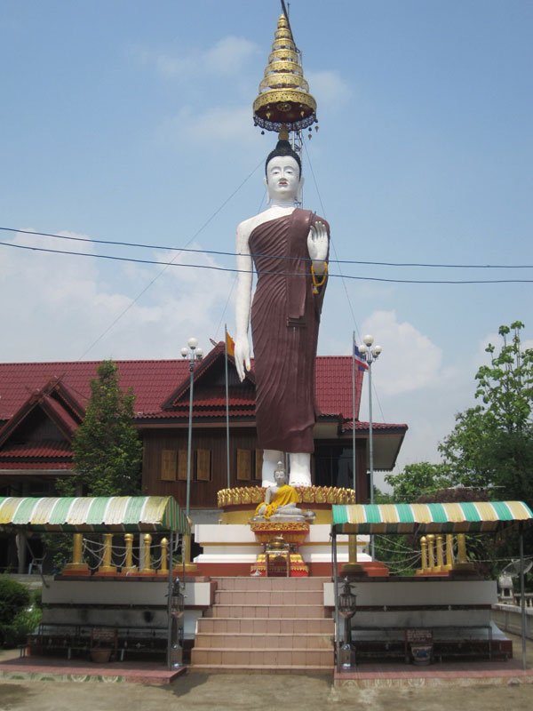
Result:
{"label": "third step from the bottom of the pinkish tiled staircase", "polygon": [[331,617],[272,619],[265,617],[235,619],[223,617],[202,617],[196,621],[196,630],[201,634],[239,633],[279,635],[334,635],[335,620]]}

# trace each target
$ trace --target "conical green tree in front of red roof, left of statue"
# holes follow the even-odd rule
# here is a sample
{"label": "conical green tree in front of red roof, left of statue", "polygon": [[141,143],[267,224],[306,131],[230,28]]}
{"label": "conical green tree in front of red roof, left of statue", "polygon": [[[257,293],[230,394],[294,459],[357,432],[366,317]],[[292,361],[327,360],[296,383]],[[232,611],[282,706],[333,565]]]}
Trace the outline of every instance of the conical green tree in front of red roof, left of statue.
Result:
{"label": "conical green tree in front of red roof, left of statue", "polygon": [[100,363],[97,373],[90,383],[84,422],[73,441],[76,475],[70,489],[81,484],[90,496],[138,494],[142,443],[133,426],[135,395],[131,387],[121,389],[113,361]]}

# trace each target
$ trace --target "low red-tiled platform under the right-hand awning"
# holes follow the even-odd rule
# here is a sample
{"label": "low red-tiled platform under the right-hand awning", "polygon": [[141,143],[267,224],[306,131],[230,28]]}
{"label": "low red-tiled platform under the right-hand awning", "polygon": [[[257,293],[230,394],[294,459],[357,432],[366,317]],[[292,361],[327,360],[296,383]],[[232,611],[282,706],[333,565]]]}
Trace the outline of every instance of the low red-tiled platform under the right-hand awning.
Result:
{"label": "low red-tiled platform under the right-hand awning", "polygon": [[415,687],[415,686],[475,686],[494,684],[511,686],[533,683],[533,669],[522,669],[521,659],[508,661],[442,662],[429,667],[414,667],[402,662],[361,664],[353,672],[335,669],[335,686]]}

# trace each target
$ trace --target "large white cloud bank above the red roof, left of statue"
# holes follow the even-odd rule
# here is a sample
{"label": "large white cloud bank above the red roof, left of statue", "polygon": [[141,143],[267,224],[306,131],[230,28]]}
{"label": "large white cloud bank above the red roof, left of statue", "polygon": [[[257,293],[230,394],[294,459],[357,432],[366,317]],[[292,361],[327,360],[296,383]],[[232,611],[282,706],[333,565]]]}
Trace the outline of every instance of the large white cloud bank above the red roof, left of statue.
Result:
{"label": "large white cloud bank above the red roof, left of statue", "polygon": [[[64,246],[20,233],[12,243],[51,249]],[[72,252],[92,252],[91,244],[68,245]],[[134,303],[160,268],[115,262],[110,273],[103,260],[8,247],[2,257],[0,298],[9,304],[0,314],[2,361],[178,357],[190,335],[195,335],[206,351],[211,347],[210,337],[222,337],[216,331],[231,291],[229,273],[167,268]],[[169,254],[159,253],[156,259],[167,261]],[[202,254],[179,255],[176,262],[217,266]],[[103,335],[118,316],[117,323]]]}

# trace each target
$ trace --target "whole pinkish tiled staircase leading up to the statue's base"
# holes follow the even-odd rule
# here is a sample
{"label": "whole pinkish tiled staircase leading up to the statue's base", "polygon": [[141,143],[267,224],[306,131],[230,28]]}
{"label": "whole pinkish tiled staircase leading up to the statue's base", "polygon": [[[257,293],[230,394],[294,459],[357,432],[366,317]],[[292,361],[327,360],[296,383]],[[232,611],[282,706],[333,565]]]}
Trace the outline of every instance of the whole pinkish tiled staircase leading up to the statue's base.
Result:
{"label": "whole pinkish tiled staircase leading up to the statue's base", "polygon": [[191,672],[333,671],[334,620],[326,578],[218,578],[215,603],[198,619]]}

